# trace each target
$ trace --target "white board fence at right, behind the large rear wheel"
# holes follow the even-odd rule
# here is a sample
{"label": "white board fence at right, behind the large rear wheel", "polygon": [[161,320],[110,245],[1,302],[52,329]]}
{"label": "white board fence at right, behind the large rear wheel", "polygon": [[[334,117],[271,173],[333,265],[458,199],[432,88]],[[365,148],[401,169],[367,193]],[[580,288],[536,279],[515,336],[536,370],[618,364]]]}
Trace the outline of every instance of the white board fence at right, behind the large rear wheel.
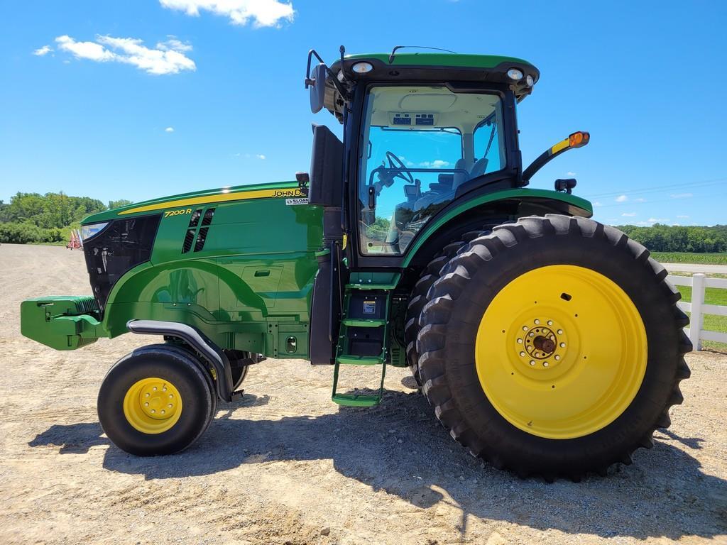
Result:
{"label": "white board fence at right, behind the large rear wheel", "polygon": [[694,345],[694,350],[702,350],[702,341],[727,342],[727,333],[702,329],[705,314],[727,316],[727,307],[704,303],[705,288],[727,289],[727,278],[707,278],[702,273],[694,276],[669,275],[667,278],[675,286],[691,286],[691,303],[680,301],[677,304],[684,312],[691,312],[689,327],[684,328],[684,331]]}

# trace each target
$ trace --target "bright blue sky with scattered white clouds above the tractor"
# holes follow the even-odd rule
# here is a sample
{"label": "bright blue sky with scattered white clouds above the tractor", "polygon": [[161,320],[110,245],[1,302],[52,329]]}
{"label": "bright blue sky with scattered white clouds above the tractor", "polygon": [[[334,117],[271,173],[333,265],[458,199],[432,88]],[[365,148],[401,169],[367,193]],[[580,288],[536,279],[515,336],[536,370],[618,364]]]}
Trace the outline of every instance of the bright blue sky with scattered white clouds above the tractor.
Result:
{"label": "bright blue sky with scattered white clouds above the tractor", "polygon": [[[308,49],[513,55],[541,79],[523,161],[575,173],[612,224],[727,223],[727,2],[146,0],[0,4],[0,199],[103,201],[292,179],[310,163]],[[47,47],[47,49],[44,49]]]}

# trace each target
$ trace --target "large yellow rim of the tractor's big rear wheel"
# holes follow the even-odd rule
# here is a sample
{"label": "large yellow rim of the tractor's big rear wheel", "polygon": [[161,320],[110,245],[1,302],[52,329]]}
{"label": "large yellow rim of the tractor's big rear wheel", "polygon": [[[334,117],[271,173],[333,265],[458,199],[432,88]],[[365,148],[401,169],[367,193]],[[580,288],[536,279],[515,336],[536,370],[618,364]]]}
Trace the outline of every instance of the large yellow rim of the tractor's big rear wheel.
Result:
{"label": "large yellow rim of the tractor's big rear wheel", "polygon": [[489,402],[549,439],[590,435],[630,405],[646,372],[646,329],[630,297],[585,267],[550,265],[494,296],[475,342]]}

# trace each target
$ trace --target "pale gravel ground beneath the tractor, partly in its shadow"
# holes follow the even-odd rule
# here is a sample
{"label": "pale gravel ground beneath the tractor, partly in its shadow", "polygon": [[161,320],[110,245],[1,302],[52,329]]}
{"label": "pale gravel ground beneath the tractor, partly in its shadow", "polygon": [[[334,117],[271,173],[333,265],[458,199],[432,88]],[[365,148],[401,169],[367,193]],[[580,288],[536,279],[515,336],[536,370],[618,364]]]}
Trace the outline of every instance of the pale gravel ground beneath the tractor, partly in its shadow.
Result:
{"label": "pale gravel ground beneath the tractor, partly in its shadow", "polygon": [[688,355],[672,427],[582,483],[473,459],[408,371],[387,370],[379,407],[340,408],[332,370],[300,360],[255,366],[188,451],[140,459],[108,442],[95,402],[109,366],[150,339],[55,352],[20,336],[22,299],[90,293],[81,253],[0,246],[0,286],[1,543],[727,543],[725,355]]}

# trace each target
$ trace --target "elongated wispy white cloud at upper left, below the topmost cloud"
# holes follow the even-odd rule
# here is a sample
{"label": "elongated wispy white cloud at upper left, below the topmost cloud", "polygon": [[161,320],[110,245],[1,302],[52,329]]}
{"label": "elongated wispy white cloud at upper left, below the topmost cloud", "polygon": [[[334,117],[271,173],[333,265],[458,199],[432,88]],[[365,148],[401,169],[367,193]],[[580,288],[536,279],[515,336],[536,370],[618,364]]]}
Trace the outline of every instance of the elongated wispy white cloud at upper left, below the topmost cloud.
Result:
{"label": "elongated wispy white cloud at upper left, below the topmost cloud", "polygon": [[[77,59],[123,62],[155,75],[176,74],[197,68],[194,61],[184,55],[190,45],[176,39],[157,44],[157,49],[145,47],[144,42],[137,38],[112,36],[96,36],[96,41],[76,41],[71,36],[58,36],[55,41],[59,49],[72,53]],[[160,45],[164,49],[159,49]]]}

